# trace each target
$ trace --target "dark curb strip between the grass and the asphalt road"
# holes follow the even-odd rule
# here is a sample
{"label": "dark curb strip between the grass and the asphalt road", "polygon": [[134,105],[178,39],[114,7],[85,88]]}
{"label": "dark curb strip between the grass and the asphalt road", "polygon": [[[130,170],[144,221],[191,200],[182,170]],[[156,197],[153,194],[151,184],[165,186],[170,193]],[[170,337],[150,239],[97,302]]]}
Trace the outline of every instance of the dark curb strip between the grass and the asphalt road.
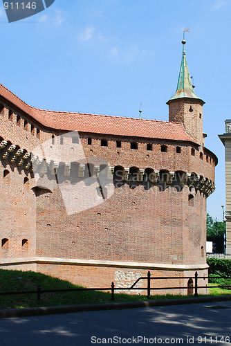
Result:
{"label": "dark curb strip between the grass and the asphalt road", "polygon": [[26,309],[5,309],[0,310],[0,318],[45,316],[58,313],[74,313],[82,311],[136,309],[140,307],[166,307],[170,305],[196,304],[201,302],[222,302],[228,300],[231,300],[231,295],[172,300],[149,300],[142,302],[113,302],[104,304],[64,305],[62,307],[32,307]]}

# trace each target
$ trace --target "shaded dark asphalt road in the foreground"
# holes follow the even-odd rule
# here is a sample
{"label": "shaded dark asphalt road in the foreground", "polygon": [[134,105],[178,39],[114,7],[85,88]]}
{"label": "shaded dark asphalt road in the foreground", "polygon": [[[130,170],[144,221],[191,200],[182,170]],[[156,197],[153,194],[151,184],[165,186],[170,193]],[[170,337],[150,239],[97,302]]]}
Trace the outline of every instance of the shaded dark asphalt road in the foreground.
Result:
{"label": "shaded dark asphalt road in the foreground", "polygon": [[8,318],[0,345],[230,345],[230,317],[231,302],[210,302]]}

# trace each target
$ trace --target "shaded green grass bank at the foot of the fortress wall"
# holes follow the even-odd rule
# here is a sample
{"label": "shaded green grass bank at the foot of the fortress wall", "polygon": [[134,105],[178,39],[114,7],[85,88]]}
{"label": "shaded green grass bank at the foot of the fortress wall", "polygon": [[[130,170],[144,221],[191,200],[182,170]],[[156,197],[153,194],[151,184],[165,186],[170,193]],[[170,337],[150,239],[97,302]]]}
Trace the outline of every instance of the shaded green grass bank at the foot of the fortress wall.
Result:
{"label": "shaded green grass bank at the foot of the fortress wall", "polygon": [[[33,271],[8,271],[0,269],[0,293],[15,291],[36,291],[37,285],[41,290],[75,289],[68,281],[59,280]],[[210,294],[230,294],[231,290],[211,289]],[[152,300],[190,298],[187,295],[152,295]],[[132,295],[115,293],[115,302],[134,302],[147,300],[146,295]],[[64,293],[41,293],[41,301],[37,301],[37,294],[0,295],[0,309],[21,309],[25,307],[48,307],[71,304],[96,304],[111,302],[111,293],[105,291],[78,291]]]}

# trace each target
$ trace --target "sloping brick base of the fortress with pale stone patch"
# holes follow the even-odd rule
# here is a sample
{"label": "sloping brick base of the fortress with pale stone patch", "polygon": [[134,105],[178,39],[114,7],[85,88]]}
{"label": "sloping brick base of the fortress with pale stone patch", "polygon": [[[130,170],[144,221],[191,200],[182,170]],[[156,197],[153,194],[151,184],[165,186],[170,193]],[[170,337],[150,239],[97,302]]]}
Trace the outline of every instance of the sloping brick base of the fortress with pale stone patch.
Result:
{"label": "sloping brick base of the fortress with pale stone patch", "polygon": [[[51,261],[50,261],[51,262]],[[84,265],[84,264],[68,264],[64,262],[47,263],[44,260],[30,260],[26,263],[0,264],[1,269],[10,269],[18,271],[35,271],[57,277],[61,280],[67,280],[73,284],[88,288],[111,288],[111,282],[114,282],[116,290],[115,293],[127,294],[147,294],[147,279],[140,280],[133,290],[127,290],[131,287],[139,277],[147,277],[147,272],[151,272],[151,295],[162,294],[181,294],[187,293],[194,294],[194,289],[188,291],[189,278],[192,277],[194,285],[195,271],[198,272],[199,277],[207,276],[207,269],[193,269],[193,270],[179,270],[174,268],[151,268],[140,267],[133,268],[132,266],[113,266],[113,265]],[[156,279],[154,279],[156,277]],[[163,277],[160,279],[160,277]],[[176,277],[170,279],[168,277]],[[207,286],[207,279],[198,279],[198,286]],[[176,289],[169,289],[169,288]],[[178,288],[181,287],[181,288]],[[143,289],[142,289],[143,288]],[[155,289],[156,288],[156,289]],[[26,287],[25,287],[26,289]],[[43,287],[43,289],[46,289]],[[126,289],[126,290],[124,290]],[[208,289],[198,289],[199,294],[207,294]]]}

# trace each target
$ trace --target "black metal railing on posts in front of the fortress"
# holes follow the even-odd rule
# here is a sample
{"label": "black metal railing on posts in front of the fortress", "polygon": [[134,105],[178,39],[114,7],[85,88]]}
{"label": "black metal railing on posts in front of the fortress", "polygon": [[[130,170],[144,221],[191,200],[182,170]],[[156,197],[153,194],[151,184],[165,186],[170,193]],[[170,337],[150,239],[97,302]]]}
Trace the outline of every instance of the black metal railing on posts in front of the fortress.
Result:
{"label": "black metal railing on posts in front of the fortress", "polygon": [[[77,289],[48,289],[48,290],[42,290],[41,285],[37,285],[37,290],[36,291],[16,291],[16,292],[0,292],[0,295],[21,295],[21,294],[36,294],[37,295],[37,300],[40,302],[41,300],[41,294],[43,293],[61,293],[61,292],[76,292],[76,291],[111,291],[111,300],[115,300],[115,291],[132,291],[132,290],[147,290],[147,298],[151,298],[151,291],[154,290],[171,290],[171,289],[187,289],[190,291],[194,290],[194,296],[198,297],[198,289],[208,289],[209,287],[206,286],[198,286],[198,279],[231,279],[231,277],[222,277],[222,276],[198,276],[197,271],[195,272],[194,277],[189,276],[189,277],[151,277],[151,272],[147,272],[147,276],[145,277],[139,277],[136,282],[133,283],[131,287],[115,287],[114,282],[111,282],[111,287],[109,288],[102,288],[102,287],[95,287],[91,289],[87,288],[77,288]],[[194,281],[194,285],[190,284],[185,286],[171,286],[171,287],[151,287],[151,280],[179,280],[179,279],[191,279],[191,283]],[[140,280],[147,280],[147,287],[135,287],[136,284]],[[231,285],[216,285],[216,286],[210,286],[211,287],[222,287],[223,289],[228,288],[231,289]]]}

